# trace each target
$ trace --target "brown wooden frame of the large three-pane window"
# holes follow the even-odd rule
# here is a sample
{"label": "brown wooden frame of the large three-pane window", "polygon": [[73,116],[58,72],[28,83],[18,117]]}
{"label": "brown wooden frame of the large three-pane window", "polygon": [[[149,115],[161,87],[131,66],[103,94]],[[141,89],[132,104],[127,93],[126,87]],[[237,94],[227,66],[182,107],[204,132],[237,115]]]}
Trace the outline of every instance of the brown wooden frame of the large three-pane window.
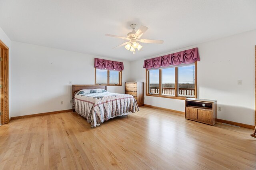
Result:
{"label": "brown wooden frame of the large three-pane window", "polygon": [[[164,97],[164,98],[170,98],[170,99],[180,99],[185,100],[187,98],[197,98],[197,61],[194,62],[195,64],[195,96],[179,96],[178,95],[178,67],[175,67],[175,95],[169,96],[169,95],[162,95],[162,69],[159,69],[159,94],[150,94],[149,93],[149,70],[146,69],[146,96],[152,96],[152,97]],[[185,65],[184,65],[185,66]]]}

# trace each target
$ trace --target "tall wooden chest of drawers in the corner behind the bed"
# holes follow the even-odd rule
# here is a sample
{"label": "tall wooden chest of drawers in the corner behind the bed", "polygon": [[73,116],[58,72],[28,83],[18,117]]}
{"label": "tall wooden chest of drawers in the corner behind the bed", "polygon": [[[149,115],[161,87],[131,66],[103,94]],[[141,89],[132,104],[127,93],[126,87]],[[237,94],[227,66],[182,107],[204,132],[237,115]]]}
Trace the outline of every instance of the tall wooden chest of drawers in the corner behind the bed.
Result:
{"label": "tall wooden chest of drawers in the corner behind the bed", "polygon": [[138,106],[144,105],[143,88],[143,82],[125,82],[125,94],[132,95],[136,99]]}

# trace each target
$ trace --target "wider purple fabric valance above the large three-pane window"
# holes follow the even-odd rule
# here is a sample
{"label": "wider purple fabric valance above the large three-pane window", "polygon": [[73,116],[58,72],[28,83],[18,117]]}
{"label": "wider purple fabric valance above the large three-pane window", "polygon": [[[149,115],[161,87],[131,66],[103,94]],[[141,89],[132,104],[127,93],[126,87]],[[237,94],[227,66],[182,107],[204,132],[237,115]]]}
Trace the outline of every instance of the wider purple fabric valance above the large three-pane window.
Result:
{"label": "wider purple fabric valance above the large three-pane window", "polygon": [[159,67],[168,67],[170,65],[180,65],[181,63],[190,64],[195,61],[200,61],[198,48],[187,49],[177,53],[146,59],[144,61],[143,68],[157,69]]}

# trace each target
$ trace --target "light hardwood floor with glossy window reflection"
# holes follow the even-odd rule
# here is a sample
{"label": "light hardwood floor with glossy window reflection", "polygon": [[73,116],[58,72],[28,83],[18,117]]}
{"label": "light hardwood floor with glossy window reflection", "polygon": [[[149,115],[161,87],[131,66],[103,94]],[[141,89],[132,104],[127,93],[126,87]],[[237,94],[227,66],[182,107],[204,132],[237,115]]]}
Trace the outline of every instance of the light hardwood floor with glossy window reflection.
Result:
{"label": "light hardwood floor with glossy window reflection", "polygon": [[140,107],[99,127],[76,113],[0,126],[0,169],[256,169],[252,130]]}

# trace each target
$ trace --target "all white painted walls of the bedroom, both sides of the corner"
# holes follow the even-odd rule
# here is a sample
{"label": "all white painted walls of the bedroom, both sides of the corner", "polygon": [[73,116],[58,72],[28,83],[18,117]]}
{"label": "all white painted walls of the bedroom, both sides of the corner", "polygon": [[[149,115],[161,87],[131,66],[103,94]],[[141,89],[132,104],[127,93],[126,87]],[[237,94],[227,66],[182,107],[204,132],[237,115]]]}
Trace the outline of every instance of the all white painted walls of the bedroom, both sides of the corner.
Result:
{"label": "all white painted walls of the bedroom, both sides of the corner", "polygon": [[[69,81],[94,84],[94,57],[98,56],[10,42],[6,37],[0,29],[0,39],[12,48],[10,117],[71,109]],[[168,53],[198,47],[198,98],[218,100],[222,107],[218,119],[254,125],[254,45],[256,30]],[[125,81],[145,82],[143,62],[124,61],[123,85],[109,86],[108,90],[124,93]],[[237,80],[242,80],[242,85]],[[145,96],[144,103],[184,111],[183,100]]]}

